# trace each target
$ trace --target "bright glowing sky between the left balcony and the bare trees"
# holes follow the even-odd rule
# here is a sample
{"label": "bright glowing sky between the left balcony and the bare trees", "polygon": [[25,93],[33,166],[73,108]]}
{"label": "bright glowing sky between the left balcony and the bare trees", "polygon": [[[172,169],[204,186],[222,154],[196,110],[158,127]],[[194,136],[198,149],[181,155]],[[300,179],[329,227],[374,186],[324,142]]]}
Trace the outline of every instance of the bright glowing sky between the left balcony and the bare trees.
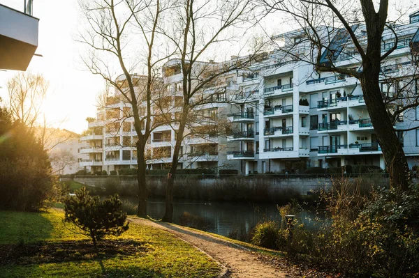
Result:
{"label": "bright glowing sky between the left balcony and the bare trees", "polygon": [[[3,5],[23,10],[24,0],[0,0]],[[39,21],[37,54],[28,70],[39,72],[50,81],[50,90],[44,104],[47,121],[59,122],[59,128],[74,132],[87,129],[88,116],[96,116],[96,94],[103,90],[101,77],[91,75],[80,64],[78,43],[73,41],[77,34],[77,1],[34,0],[34,17]],[[0,71],[1,106],[7,103],[7,80],[16,72]],[[55,123],[55,126],[58,124]]]}

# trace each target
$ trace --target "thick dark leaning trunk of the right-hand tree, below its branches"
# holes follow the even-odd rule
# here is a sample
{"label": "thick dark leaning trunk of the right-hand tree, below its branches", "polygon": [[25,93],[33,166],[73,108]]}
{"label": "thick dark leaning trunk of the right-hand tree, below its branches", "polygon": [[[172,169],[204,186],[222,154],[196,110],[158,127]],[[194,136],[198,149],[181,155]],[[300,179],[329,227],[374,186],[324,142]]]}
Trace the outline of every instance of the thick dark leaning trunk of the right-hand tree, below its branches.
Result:
{"label": "thick dark leaning trunk of the right-hand tree, below its branches", "polygon": [[374,82],[378,77],[379,68],[372,68],[371,65],[364,63],[364,72],[360,80],[362,91],[374,132],[383,150],[385,167],[390,174],[390,187],[399,187],[405,191],[409,188],[409,167],[402,144],[397,138],[385,108],[379,82]]}

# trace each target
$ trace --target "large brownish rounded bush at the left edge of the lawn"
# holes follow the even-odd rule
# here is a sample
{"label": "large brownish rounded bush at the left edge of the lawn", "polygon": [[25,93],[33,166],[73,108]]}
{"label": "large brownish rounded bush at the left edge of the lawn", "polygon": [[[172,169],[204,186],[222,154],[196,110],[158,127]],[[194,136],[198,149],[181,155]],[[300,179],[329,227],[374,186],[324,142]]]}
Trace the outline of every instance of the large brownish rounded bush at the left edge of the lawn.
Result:
{"label": "large brownish rounded bush at the left edge of the lawn", "polygon": [[33,132],[0,108],[0,209],[39,210],[59,193]]}

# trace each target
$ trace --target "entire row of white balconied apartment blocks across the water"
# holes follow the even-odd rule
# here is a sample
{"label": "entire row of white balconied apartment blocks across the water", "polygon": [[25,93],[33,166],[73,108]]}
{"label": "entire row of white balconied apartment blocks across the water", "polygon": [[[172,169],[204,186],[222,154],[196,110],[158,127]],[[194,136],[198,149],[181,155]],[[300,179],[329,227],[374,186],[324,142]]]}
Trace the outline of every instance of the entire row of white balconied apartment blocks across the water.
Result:
{"label": "entire row of white balconied apartment blocks across the water", "polygon": [[[409,95],[418,93],[418,80],[414,79],[418,74],[418,18],[419,14],[414,13],[409,24],[397,26],[397,49],[383,61],[381,89],[385,101],[392,100],[401,88]],[[365,26],[354,29],[360,42],[366,43]],[[319,26],[320,33],[327,31]],[[307,52],[307,47],[300,43],[304,39],[302,31],[284,33],[277,39],[285,45],[297,45],[295,51]],[[325,43],[341,39],[338,32]],[[393,45],[395,36],[386,30],[382,52]],[[311,63],[295,61],[290,56],[279,51],[262,54],[247,70],[233,70],[203,89],[203,94],[211,95],[214,102],[194,107],[207,121],[189,125],[193,134],[182,142],[179,167],[238,169],[243,174],[293,171],[301,163],[323,168],[372,164],[384,169],[382,151],[358,79],[333,72],[314,72]],[[362,70],[350,40],[346,40],[344,48],[334,57],[337,66]],[[223,63],[234,61],[237,56]],[[214,62],[197,66],[211,64]],[[173,118],[177,117],[177,107],[183,102],[181,73],[177,59],[163,66],[162,82],[168,93],[165,98],[169,100]],[[405,105],[404,101],[393,101],[388,107],[395,109],[397,105]],[[119,101],[113,108],[114,111],[112,107],[98,111],[96,121],[89,123],[89,134],[81,138],[89,142],[89,148],[80,150],[89,153],[89,161],[81,165],[91,167],[92,172],[135,168],[136,165],[133,120],[122,121],[124,109],[130,107]],[[144,109],[140,111],[145,113]],[[120,120],[115,121],[116,118]],[[226,137],[219,132],[222,118],[230,123]],[[106,125],[109,121],[114,122],[113,127]],[[161,121],[159,116],[154,116],[153,122],[158,121]],[[406,110],[397,119],[395,128],[409,128],[409,131],[397,132],[397,136],[404,144],[409,166],[419,164],[419,109]],[[152,132],[147,145],[149,169],[168,167],[176,129],[175,123],[162,124]],[[200,129],[202,132],[197,132]]]}

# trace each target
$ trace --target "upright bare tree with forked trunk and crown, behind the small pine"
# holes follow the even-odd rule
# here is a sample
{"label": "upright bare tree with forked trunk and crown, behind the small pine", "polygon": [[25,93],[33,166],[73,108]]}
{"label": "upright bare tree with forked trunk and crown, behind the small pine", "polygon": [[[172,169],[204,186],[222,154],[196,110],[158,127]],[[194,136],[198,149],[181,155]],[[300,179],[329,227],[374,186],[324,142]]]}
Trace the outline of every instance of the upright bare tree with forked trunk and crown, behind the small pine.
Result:
{"label": "upright bare tree with forked trunk and crown, behind the small pine", "polygon": [[[159,91],[159,63],[167,59],[159,50],[157,28],[161,17],[170,8],[170,1],[80,1],[87,30],[82,31],[80,42],[91,52],[83,59],[84,65],[114,86],[118,97],[129,104],[129,116],[134,119],[138,141],[138,215],[147,216],[147,184],[145,179],[145,146],[152,132],[152,95]],[[137,51],[135,51],[137,50]],[[140,50],[140,52],[138,52]],[[112,61],[115,64],[112,64]],[[116,80],[112,65],[123,72]],[[144,75],[133,75],[134,70]],[[145,113],[140,113],[140,107]],[[127,109],[128,111],[128,109]]]}

